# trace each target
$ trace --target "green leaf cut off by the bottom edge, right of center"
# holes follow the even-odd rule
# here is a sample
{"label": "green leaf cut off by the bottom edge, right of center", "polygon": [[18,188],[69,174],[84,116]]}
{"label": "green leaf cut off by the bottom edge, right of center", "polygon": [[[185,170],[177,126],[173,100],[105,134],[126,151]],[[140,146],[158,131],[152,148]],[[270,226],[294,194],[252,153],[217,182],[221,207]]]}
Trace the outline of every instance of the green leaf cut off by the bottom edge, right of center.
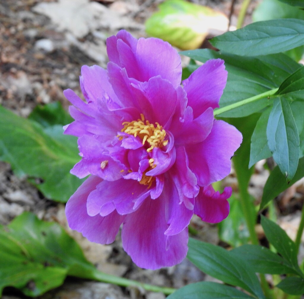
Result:
{"label": "green leaf cut off by the bottom edge, right of center", "polygon": [[182,287],[168,299],[253,299],[253,297],[223,284],[202,281]]}

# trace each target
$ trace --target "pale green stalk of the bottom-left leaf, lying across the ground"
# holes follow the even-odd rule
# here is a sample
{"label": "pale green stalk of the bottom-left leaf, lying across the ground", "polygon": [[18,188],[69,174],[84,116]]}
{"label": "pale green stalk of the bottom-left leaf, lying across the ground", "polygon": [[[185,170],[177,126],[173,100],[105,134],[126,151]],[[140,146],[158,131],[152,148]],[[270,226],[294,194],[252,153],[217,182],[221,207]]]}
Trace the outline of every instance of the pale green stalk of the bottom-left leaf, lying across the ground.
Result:
{"label": "pale green stalk of the bottom-left leaf, lying across the ground", "polygon": [[[141,283],[136,280],[130,280],[130,279],[123,278],[123,277],[109,275],[109,274],[103,273],[101,271],[98,271],[97,269],[94,269],[92,274],[93,274],[93,276],[90,277],[91,279],[95,279],[95,280],[102,281],[105,283],[116,284],[121,287],[134,286],[134,287],[143,288],[147,291],[152,291],[152,292],[157,292],[157,293],[160,292],[165,295],[170,295],[176,291],[176,289],[174,289],[174,288],[159,287],[159,286],[154,286],[154,285],[151,285],[148,283]],[[89,278],[89,277],[87,277],[87,278]]]}

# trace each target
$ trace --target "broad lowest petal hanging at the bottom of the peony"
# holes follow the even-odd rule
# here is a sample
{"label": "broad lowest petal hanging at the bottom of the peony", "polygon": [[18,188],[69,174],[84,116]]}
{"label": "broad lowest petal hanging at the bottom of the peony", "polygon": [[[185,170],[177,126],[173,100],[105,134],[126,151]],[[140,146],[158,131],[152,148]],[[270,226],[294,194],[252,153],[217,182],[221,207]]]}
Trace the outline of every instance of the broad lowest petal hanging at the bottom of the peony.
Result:
{"label": "broad lowest petal hanging at the bottom of the peony", "polygon": [[154,270],[176,265],[186,257],[188,229],[167,237],[167,222],[165,202],[160,198],[146,199],[138,210],[126,216],[123,248],[137,266]]}

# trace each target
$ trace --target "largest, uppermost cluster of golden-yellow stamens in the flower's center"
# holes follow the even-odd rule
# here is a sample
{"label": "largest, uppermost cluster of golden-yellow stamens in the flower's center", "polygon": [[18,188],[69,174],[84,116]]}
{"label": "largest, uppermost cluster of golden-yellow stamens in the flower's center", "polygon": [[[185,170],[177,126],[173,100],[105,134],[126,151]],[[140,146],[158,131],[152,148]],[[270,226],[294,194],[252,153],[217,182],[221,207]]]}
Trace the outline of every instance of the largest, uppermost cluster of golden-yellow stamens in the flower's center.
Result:
{"label": "largest, uppermost cluster of golden-yellow stamens in the flower's center", "polygon": [[168,140],[164,140],[166,136],[166,131],[163,127],[156,122],[154,124],[150,124],[148,120],[145,121],[145,117],[143,114],[140,114],[141,119],[137,121],[125,121],[123,122],[123,129],[121,132],[125,132],[130,135],[134,135],[134,137],[138,136],[142,141],[143,145],[147,141],[150,147],[147,149],[149,153],[152,151],[154,147],[163,147],[168,144]]}

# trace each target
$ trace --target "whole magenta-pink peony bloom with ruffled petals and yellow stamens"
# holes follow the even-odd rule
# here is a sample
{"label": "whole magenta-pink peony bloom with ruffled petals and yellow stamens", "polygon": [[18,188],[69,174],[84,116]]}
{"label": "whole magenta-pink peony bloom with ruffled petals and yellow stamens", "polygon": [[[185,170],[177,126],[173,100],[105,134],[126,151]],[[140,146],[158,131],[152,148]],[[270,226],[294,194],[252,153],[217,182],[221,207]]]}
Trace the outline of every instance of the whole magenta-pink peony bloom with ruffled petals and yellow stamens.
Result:
{"label": "whole magenta-pink peony bloom with ruffled petals and yellow stamens", "polygon": [[211,223],[229,213],[231,188],[220,194],[211,185],[229,174],[242,141],[213,117],[224,62],[209,60],[181,83],[181,58],[163,40],[121,30],[107,51],[107,70],[81,69],[86,103],[64,91],[75,119],[65,134],[78,137],[82,157],[71,173],[91,174],[67,202],[67,220],[101,244],[123,223],[123,248],[136,265],[173,266],[187,254],[193,213]]}

